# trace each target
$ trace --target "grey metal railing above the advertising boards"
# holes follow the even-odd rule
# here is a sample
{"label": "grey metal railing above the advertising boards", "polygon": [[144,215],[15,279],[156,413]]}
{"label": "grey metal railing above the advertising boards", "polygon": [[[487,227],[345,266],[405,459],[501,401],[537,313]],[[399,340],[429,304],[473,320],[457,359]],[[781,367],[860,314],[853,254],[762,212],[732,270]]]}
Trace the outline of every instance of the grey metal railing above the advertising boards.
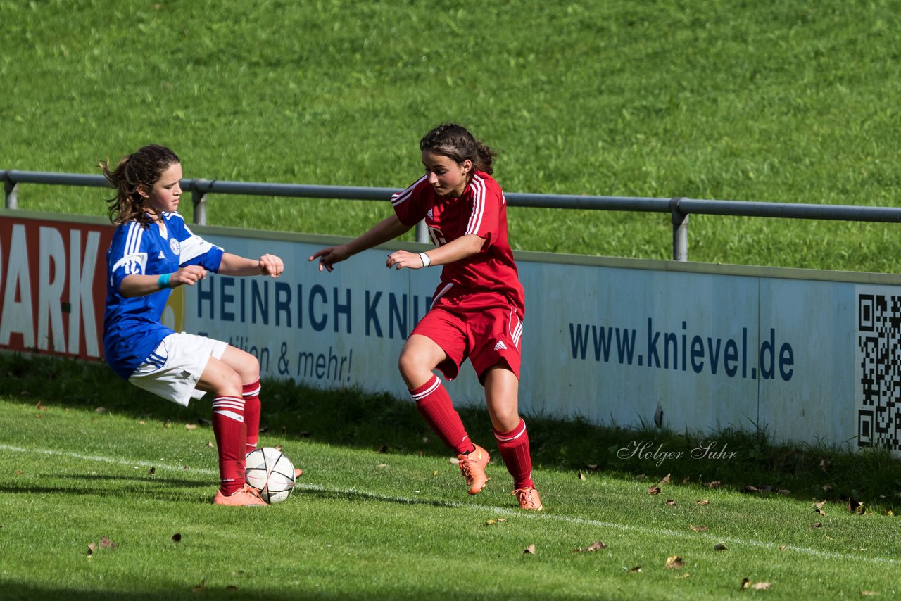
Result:
{"label": "grey metal railing above the advertising boards", "polygon": [[[45,171],[0,170],[4,182],[6,208],[19,204],[19,184],[108,187],[101,175],[51,173]],[[207,196],[239,194],[246,196],[291,196],[296,198],[331,198],[341,200],[389,200],[400,188],[314,186],[305,184],[267,184],[260,182],[222,181],[217,179],[182,179],[181,188],[191,195],[194,223],[206,224]],[[583,209],[592,211],[629,211],[669,213],[672,222],[673,260],[688,260],[688,216],[690,214],[732,215],[739,217],[778,217],[789,219],[824,219],[870,223],[901,223],[901,208],[853,205],[802,205],[735,200],[702,200],[677,196],[646,198],[641,196],[576,196],[552,194],[505,193],[507,205],[551,209]],[[428,241],[420,223],[416,241]]]}

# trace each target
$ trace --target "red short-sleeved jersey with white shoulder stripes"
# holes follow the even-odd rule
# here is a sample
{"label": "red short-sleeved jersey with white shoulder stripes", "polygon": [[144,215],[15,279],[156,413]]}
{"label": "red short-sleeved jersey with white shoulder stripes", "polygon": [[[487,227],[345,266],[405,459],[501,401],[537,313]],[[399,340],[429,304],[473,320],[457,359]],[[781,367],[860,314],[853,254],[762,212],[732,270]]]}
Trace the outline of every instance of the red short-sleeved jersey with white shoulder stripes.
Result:
{"label": "red short-sleeved jersey with white shoulder stripes", "polygon": [[523,285],[507,240],[506,200],[494,178],[475,171],[462,196],[454,198],[438,196],[423,176],[391,196],[391,205],[405,225],[413,226],[424,219],[435,246],[470,233],[485,239],[476,254],[441,269],[441,284],[432,302],[445,295],[494,292],[505,296],[523,317]]}

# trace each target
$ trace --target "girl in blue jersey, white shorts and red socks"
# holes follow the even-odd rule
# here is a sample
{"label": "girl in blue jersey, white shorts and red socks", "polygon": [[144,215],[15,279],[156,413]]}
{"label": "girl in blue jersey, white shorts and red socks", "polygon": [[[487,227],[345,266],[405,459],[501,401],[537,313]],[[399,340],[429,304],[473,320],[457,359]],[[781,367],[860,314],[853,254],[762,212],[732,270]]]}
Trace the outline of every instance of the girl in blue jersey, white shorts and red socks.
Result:
{"label": "girl in blue jersey, white shorts and red socks", "polygon": [[[114,168],[100,163],[116,190],[108,203],[115,225],[106,253],[106,362],[137,387],[186,405],[213,393],[213,430],[219,449],[216,505],[266,505],[244,483],[244,457],[259,437],[259,361],[223,341],[161,323],[171,290],[194,286],[207,271],[278,278],[282,260],[224,252],[197,236],[177,214],[181,161],[151,144]],[[296,470],[299,475],[300,470]]]}

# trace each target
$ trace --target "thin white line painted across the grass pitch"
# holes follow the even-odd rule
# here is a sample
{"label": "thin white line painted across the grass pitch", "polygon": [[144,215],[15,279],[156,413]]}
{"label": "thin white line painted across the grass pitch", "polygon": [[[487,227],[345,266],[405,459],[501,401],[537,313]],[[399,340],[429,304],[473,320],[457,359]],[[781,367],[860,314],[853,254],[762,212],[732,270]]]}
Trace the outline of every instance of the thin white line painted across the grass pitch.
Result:
{"label": "thin white line painted across the grass pitch", "polygon": [[[43,455],[50,456],[59,456],[59,457],[68,457],[70,459],[76,460],[86,460],[86,461],[99,461],[102,463],[113,463],[115,465],[121,466],[134,466],[141,468],[156,468],[156,469],[168,469],[171,471],[180,471],[184,472],[186,469],[184,467],[177,467],[171,465],[160,464],[155,461],[144,461],[144,460],[136,460],[129,461],[122,458],[116,457],[105,457],[101,455],[82,455],[80,453],[74,453],[71,451],[58,451],[53,449],[25,449],[23,447],[13,447],[6,444],[0,444],[0,451],[9,451],[9,452],[29,452],[29,453],[41,453]],[[218,471],[215,469],[203,469],[203,468],[190,468],[187,471],[196,472],[199,474],[204,474],[207,476],[216,476],[218,475]],[[355,495],[355,496],[364,496],[366,498],[374,499],[377,501],[387,501],[391,503],[405,503],[409,505],[436,505],[441,507],[459,507],[461,509],[475,509],[482,512],[489,512],[493,514],[503,514],[503,515],[513,515],[515,517],[525,517],[533,520],[551,520],[556,522],[566,522],[568,524],[579,524],[579,525],[587,525],[587,526],[596,526],[600,528],[610,528],[613,530],[620,530],[623,532],[638,532],[643,534],[657,534],[664,535],[670,538],[678,538],[678,539],[687,539],[696,541],[697,535],[691,533],[682,533],[675,530],[667,530],[666,528],[648,528],[645,526],[636,526],[633,524],[616,524],[614,522],[601,522],[599,520],[590,520],[583,517],[570,517],[569,515],[554,515],[547,513],[531,513],[531,512],[523,512],[517,511],[514,509],[508,509],[506,507],[496,507],[491,505],[477,505],[472,503],[457,503],[454,501],[423,501],[423,499],[415,499],[405,496],[389,496],[389,495],[381,495],[379,493],[372,493],[364,490],[359,490],[358,488],[335,488],[335,487],[320,487],[310,484],[298,484],[298,488],[303,490],[309,490],[313,492],[325,492],[332,494],[340,494],[340,495]],[[742,539],[732,536],[727,537],[719,537],[716,539],[716,542],[729,542],[735,545],[747,545],[749,547],[760,547],[762,549],[772,549],[777,550],[778,545],[775,542],[765,542],[765,541],[756,541],[754,539]],[[805,555],[812,555],[815,557],[822,557],[824,559],[830,560],[849,560],[849,561],[868,561],[870,563],[878,563],[883,565],[901,565],[901,560],[894,560],[886,557],[868,557],[866,555],[856,555],[851,553],[838,553],[833,551],[820,551],[818,549],[811,549],[809,547],[798,547],[795,545],[787,545],[785,551],[795,551],[797,553],[803,553]]]}

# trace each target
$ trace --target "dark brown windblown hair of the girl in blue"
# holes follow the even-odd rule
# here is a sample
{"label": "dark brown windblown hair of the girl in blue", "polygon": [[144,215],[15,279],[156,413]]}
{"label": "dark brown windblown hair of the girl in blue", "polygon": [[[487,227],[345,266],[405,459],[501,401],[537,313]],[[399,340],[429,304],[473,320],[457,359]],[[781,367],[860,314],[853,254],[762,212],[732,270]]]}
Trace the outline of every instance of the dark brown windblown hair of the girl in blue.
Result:
{"label": "dark brown windblown hair of the girl in blue", "polygon": [[116,225],[136,221],[144,228],[150,227],[152,220],[147,214],[147,199],[141,196],[138,188],[150,189],[159,181],[163,171],[180,162],[175,152],[159,144],[149,144],[135,150],[123,157],[113,169],[109,168],[108,160],[100,161],[98,167],[116,190],[116,196],[106,201],[110,221]]}

